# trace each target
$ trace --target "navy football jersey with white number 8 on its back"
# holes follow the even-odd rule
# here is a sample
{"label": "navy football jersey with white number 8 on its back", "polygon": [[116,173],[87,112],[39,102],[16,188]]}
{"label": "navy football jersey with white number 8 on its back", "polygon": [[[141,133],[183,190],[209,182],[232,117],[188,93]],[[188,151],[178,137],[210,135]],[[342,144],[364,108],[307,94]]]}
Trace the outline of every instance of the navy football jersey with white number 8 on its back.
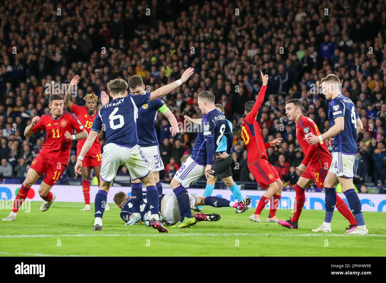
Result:
{"label": "navy football jersey with white number 8 on its back", "polygon": [[[200,132],[193,145],[191,158],[200,165],[207,165],[207,140],[214,138],[215,152],[224,134],[230,133],[227,118],[217,109],[209,111],[201,121]],[[213,156],[212,156],[213,158]]]}

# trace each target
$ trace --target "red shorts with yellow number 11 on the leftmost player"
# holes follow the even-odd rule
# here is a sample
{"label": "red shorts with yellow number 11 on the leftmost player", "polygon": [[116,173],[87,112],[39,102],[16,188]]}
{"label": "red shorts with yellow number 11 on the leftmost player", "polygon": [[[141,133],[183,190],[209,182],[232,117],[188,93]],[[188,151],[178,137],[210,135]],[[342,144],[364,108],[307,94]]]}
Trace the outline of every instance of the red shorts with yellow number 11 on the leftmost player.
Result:
{"label": "red shorts with yellow number 11 on the leftmost player", "polygon": [[54,186],[60,176],[66,171],[67,165],[49,160],[43,154],[38,154],[31,162],[30,168],[37,171],[40,175],[44,174],[43,182],[49,186]]}

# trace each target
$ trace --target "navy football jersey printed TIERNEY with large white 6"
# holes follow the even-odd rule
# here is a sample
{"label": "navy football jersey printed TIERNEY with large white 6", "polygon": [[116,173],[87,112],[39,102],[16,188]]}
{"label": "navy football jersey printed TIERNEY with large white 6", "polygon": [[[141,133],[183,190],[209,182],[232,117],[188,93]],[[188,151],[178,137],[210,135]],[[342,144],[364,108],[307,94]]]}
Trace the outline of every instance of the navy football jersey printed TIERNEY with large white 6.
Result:
{"label": "navy football jersey printed TIERNEY with large white 6", "polygon": [[138,144],[137,124],[138,108],[149,103],[150,93],[129,94],[114,99],[106,104],[95,117],[92,131],[106,132],[105,144],[110,142],[124,147]]}

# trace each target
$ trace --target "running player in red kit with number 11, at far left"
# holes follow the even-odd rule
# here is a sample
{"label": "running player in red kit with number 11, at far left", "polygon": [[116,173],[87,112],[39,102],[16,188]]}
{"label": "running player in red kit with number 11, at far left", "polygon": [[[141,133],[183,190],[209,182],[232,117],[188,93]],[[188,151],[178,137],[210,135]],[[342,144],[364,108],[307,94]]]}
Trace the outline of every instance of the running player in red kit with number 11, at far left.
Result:
{"label": "running player in red kit with number 11, at far left", "polygon": [[[29,189],[43,174],[44,179],[39,187],[39,196],[44,199],[44,203],[40,211],[47,211],[56,198],[50,190],[66,171],[73,140],[87,137],[87,131],[78,118],[72,113],[63,112],[64,102],[60,94],[49,96],[48,107],[51,109],[51,114],[32,118],[31,124],[25,128],[25,137],[43,129],[46,132],[46,141],[38,156],[32,160],[27,177],[17,192],[12,212],[3,221],[15,220],[17,211],[27,198]],[[73,135],[73,130],[78,134]]]}

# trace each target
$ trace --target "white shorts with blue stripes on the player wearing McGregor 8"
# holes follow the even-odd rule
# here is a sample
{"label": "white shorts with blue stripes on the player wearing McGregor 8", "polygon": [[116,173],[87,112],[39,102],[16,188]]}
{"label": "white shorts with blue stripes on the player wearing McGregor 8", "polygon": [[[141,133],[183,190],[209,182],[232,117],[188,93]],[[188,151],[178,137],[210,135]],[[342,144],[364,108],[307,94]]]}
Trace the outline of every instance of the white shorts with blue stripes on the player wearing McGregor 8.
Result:
{"label": "white shorts with blue stripes on the player wearing McGregor 8", "polygon": [[191,184],[194,184],[204,174],[205,166],[198,164],[189,156],[173,178],[184,188],[189,188]]}

